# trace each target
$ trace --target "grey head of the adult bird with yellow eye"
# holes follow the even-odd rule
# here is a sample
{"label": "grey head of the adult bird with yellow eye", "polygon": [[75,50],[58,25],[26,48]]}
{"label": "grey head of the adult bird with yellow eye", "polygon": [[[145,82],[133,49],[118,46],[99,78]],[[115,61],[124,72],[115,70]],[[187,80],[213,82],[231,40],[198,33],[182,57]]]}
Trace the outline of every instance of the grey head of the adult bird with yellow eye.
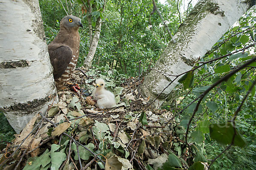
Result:
{"label": "grey head of the adult bird with yellow eye", "polygon": [[62,18],[61,25],[67,29],[70,28],[83,28],[83,24],[81,23],[81,19],[79,17],[73,15],[67,15],[66,17]]}

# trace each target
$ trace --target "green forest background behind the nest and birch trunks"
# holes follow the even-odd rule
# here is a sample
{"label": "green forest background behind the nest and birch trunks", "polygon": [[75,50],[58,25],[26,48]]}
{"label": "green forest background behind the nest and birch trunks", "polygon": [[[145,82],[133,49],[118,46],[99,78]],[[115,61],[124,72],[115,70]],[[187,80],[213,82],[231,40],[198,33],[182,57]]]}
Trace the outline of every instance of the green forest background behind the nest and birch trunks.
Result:
{"label": "green forest background behind the nest and birch trunks", "polygon": [[[102,4],[102,0],[92,1]],[[82,19],[84,29],[79,29],[81,42],[80,54],[77,67],[83,66],[84,59],[87,56],[90,46],[90,37],[88,29],[87,12],[84,10],[81,0],[40,0],[41,14],[44,21],[47,43],[51,42],[58,33],[59,23],[62,17],[73,14]],[[157,2],[166,24],[175,34],[180,24],[186,19],[187,14],[192,9],[191,1],[183,5],[183,1],[167,0],[166,3]],[[188,8],[187,5],[189,5]],[[185,8],[184,8],[185,7]],[[183,9],[182,9],[183,8]],[[92,12],[92,28],[95,31],[96,19],[102,18],[102,27],[99,38],[99,44],[93,58],[93,68],[108,71],[112,69],[124,77],[141,77],[153,68],[155,62],[163,53],[165,47],[172,38],[157,12],[151,13],[153,3],[151,0],[107,0],[105,11],[95,6]],[[67,12],[67,13],[66,13]],[[214,45],[211,51],[201,58],[200,62],[209,59],[218,58],[233,51],[244,49],[235,53],[231,57],[216,60],[216,62],[204,65],[194,72],[194,85],[186,85],[182,80],[181,84],[175,88],[178,102],[170,101],[162,106],[172,112],[179,112],[192,102],[198,93],[205,90],[207,85],[217,81],[220,77],[241,65],[247,59],[255,55],[255,48],[248,50],[248,45],[255,42],[255,7],[247,11],[239,21],[227,31],[226,34]],[[139,71],[140,68],[140,71]],[[225,149],[225,145],[220,145],[209,136],[209,130],[197,129],[200,124],[212,124],[227,122],[240,106],[242,99],[247,95],[251,88],[247,100],[241,105],[241,111],[236,118],[236,127],[243,137],[246,146],[233,146],[221,155],[212,165],[212,169],[256,169],[256,98],[255,98],[255,68],[256,65],[250,65],[233,75],[229,81],[224,82],[215,91],[208,95],[207,99],[201,103],[194,122],[192,130],[199,132],[192,139],[197,140],[201,145],[203,154],[207,159],[214,159]],[[186,86],[186,88],[184,87]],[[209,97],[210,96],[210,97]],[[195,105],[190,105],[180,116],[180,125],[186,128],[189,117],[192,115]],[[3,114],[1,113],[1,117]],[[203,118],[202,118],[203,117]],[[203,121],[201,120],[203,119]],[[2,121],[1,139],[11,140],[14,131],[8,126],[8,122]],[[203,137],[202,137],[203,136]],[[177,149],[178,152],[178,149]]]}

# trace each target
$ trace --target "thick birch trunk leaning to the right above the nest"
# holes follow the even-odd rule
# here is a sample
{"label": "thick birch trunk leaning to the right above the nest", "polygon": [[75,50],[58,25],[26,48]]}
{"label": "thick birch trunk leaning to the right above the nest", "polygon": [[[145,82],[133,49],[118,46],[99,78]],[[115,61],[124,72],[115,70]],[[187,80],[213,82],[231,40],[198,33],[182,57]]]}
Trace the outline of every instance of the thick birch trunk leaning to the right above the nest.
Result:
{"label": "thick birch trunk leaning to the right above the nest", "polygon": [[[170,43],[166,47],[154,69],[145,77],[141,86],[143,95],[155,99],[175,79],[174,76],[169,75],[179,75],[189,71],[194,62],[203,57],[253,5],[255,0],[198,1],[175,34],[177,43]],[[170,94],[178,84],[178,79],[160,95],[155,106],[160,106],[168,97],[172,97]]]}

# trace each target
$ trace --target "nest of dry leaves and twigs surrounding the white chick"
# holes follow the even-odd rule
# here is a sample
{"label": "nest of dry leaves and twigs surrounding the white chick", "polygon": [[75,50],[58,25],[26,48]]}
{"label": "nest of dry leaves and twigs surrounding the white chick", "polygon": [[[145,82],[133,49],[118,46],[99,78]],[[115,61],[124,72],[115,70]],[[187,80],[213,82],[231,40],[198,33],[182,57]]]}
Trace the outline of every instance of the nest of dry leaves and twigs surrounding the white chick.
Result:
{"label": "nest of dry leaves and twigs surrounding the white chick", "polygon": [[[179,120],[164,109],[144,111],[149,98],[138,93],[137,77],[116,75],[111,69],[103,74],[101,69],[84,71],[90,79],[75,71],[70,82],[78,84],[80,91],[69,86],[58,91],[59,102],[48,109],[46,119],[37,114],[30,120],[1,152],[5,170],[166,170],[184,165],[180,159],[187,157],[183,154],[185,129]],[[101,110],[91,102],[93,82],[99,77],[115,94],[115,108]],[[6,159],[7,153],[15,154]]]}

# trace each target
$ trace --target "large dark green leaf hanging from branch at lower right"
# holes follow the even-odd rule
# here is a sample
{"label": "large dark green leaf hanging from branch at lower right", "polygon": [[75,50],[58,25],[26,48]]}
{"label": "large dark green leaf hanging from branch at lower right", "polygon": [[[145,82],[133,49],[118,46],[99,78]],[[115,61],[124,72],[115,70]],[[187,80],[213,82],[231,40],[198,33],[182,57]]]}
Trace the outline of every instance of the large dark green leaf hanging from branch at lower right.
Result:
{"label": "large dark green leaf hanging from branch at lower right", "polygon": [[[231,144],[234,133],[234,127],[230,122],[221,124],[212,124],[209,127],[210,136],[221,144]],[[236,130],[236,129],[235,129]],[[245,141],[236,130],[236,136],[234,139],[234,145],[239,147],[245,146]]]}

